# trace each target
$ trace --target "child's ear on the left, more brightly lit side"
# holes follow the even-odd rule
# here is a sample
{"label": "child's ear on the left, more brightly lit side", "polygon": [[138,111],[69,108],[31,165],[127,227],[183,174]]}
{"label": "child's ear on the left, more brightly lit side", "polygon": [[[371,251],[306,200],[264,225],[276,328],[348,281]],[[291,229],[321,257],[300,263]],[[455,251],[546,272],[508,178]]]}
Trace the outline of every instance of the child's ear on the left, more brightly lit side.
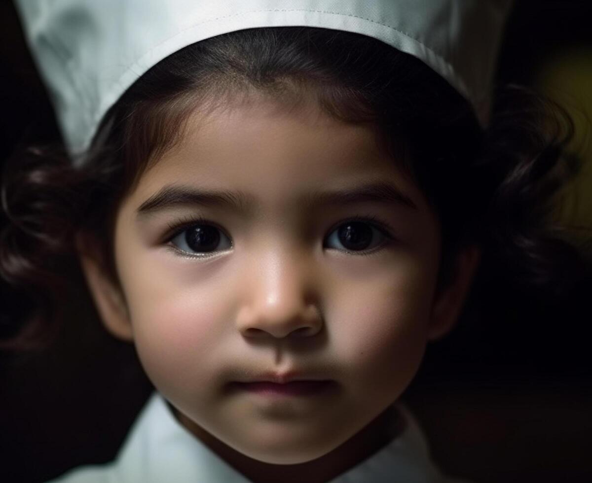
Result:
{"label": "child's ear on the left, more brightly lit side", "polygon": [[125,298],[105,271],[105,262],[89,235],[76,235],[76,251],[95,307],[112,335],[123,341],[133,341],[133,331]]}

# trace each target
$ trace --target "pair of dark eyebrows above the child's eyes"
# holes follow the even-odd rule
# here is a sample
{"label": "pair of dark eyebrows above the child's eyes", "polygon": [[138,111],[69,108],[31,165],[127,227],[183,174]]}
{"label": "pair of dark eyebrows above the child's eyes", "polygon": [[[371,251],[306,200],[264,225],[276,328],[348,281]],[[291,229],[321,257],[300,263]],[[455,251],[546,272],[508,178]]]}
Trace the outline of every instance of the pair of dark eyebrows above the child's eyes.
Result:
{"label": "pair of dark eyebrows above the child's eyes", "polygon": [[[374,202],[400,205],[417,210],[416,204],[400,189],[384,181],[364,184],[343,190],[314,191],[302,200],[305,209],[314,206],[353,205]],[[176,206],[219,206],[244,215],[252,215],[256,209],[255,197],[242,191],[202,190],[185,185],[169,184],[144,201],[136,211],[137,218],[145,218],[160,210]]]}

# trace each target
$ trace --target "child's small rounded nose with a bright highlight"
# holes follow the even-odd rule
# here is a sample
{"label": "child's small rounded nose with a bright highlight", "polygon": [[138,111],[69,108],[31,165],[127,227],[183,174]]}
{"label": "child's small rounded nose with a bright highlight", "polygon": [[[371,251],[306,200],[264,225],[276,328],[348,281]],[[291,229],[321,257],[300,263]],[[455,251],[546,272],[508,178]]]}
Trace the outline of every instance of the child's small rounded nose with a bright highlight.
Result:
{"label": "child's small rounded nose with a bright highlight", "polygon": [[[261,261],[261,260],[260,260]],[[323,328],[323,317],[314,302],[313,273],[303,257],[276,253],[249,270],[248,302],[241,307],[237,326],[247,338],[300,338]]]}

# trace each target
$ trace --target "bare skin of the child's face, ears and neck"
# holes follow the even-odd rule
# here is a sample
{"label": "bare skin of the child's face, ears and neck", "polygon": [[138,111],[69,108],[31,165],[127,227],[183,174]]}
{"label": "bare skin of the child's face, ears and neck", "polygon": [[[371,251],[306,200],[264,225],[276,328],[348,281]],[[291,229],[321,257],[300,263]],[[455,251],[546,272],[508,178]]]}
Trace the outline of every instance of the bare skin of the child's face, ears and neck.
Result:
{"label": "bare skin of the child's face, ears and neck", "polygon": [[[254,481],[321,482],[401,430],[392,403],[427,342],[455,323],[479,252],[461,252],[455,281],[436,293],[439,222],[376,132],[313,104],[289,113],[278,107],[240,103],[207,119],[192,116],[182,141],[118,212],[123,293],[82,249],[81,262],[105,325],[134,342],[186,429]],[[307,208],[302,201],[311,190],[376,180],[398,187],[417,209],[376,202]],[[187,205],[138,219],[141,203],[171,183],[241,190],[258,208],[245,215]],[[168,223],[193,215],[221,228],[231,248],[224,239],[210,258],[172,251],[163,239]],[[375,232],[378,249],[347,252],[335,233],[355,215],[387,223],[394,240]],[[333,390],[277,400],[229,391],[231,381],[290,368],[333,380]]]}

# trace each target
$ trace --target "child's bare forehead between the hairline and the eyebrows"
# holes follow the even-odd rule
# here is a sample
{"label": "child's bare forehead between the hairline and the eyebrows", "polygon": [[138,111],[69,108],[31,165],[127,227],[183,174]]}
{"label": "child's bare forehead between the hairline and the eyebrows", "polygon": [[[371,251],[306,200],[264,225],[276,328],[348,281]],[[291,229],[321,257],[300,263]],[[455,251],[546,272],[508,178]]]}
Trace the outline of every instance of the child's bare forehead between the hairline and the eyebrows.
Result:
{"label": "child's bare forehead between the hairline and the eyebrows", "polygon": [[323,183],[373,173],[403,177],[404,151],[392,154],[377,124],[340,121],[314,102],[286,107],[259,98],[195,109],[180,133],[148,173],[152,177],[198,173],[223,180],[253,171],[255,179],[270,182],[287,176]]}

